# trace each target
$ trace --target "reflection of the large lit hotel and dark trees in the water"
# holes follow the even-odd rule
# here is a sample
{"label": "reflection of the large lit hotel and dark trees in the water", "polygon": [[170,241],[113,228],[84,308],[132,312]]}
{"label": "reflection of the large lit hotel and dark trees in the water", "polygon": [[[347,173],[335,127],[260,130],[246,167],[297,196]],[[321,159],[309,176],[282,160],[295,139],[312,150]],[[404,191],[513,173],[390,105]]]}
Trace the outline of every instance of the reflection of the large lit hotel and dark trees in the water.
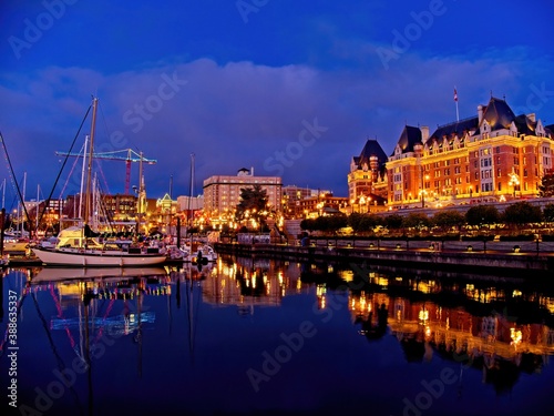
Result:
{"label": "reflection of the large lit hotel and dark trees in the water", "polygon": [[369,339],[382,336],[373,311],[379,314],[384,307],[391,316],[390,332],[408,362],[430,361],[438,354],[481,369],[483,382],[502,393],[521,372],[540,373],[554,354],[552,292],[537,292],[523,281],[500,285],[479,281],[480,276],[471,276],[469,283],[468,276],[452,273],[445,278],[401,277],[392,271],[355,270],[359,275],[351,280],[351,271],[342,273],[351,282],[366,277],[363,288],[350,291],[349,298],[360,334]]}

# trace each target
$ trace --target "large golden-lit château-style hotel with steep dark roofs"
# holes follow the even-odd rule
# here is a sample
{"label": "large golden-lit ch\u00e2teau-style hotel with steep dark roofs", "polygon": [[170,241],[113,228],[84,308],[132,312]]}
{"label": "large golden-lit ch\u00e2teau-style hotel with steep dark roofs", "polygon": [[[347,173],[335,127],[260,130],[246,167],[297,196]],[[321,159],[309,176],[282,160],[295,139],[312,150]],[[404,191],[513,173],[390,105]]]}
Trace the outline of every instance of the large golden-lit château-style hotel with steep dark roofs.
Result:
{"label": "large golden-lit ch\u00e2teau-style hotel with steep dark roofs", "polygon": [[389,207],[448,206],[536,196],[553,169],[554,126],[535,114],[515,115],[491,98],[476,116],[439,125],[406,125],[383,163],[377,141],[352,158],[349,199],[387,196]]}

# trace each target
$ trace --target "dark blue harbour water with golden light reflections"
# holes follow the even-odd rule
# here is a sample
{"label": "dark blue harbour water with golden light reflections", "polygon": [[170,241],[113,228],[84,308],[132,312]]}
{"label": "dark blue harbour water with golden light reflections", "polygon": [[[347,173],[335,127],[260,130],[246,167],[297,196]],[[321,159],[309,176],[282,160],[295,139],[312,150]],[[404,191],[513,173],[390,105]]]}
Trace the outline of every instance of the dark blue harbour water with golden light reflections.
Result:
{"label": "dark blue harbour water with golden light reflections", "polygon": [[2,415],[551,415],[554,285],[220,256],[8,268]]}

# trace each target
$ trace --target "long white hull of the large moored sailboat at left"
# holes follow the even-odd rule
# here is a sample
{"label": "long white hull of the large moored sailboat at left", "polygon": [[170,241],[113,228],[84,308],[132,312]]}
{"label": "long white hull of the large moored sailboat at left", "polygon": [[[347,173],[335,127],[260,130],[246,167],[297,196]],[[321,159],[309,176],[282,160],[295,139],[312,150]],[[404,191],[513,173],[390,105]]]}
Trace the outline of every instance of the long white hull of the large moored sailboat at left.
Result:
{"label": "long white hull of the large moored sailboat at left", "polygon": [[33,248],[37,257],[45,265],[79,267],[140,267],[162,264],[162,254],[130,254],[123,251],[80,248]]}

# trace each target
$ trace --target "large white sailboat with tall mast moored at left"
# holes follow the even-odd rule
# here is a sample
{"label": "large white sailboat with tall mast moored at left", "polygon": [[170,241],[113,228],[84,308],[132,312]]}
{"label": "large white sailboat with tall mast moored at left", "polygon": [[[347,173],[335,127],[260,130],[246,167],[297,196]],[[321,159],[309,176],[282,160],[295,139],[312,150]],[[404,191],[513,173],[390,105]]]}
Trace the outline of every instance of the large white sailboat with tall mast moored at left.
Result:
{"label": "large white sailboat with tall mast moored at left", "polygon": [[33,253],[45,265],[79,267],[132,267],[151,266],[166,261],[158,247],[107,244],[99,239],[89,225],[91,214],[92,161],[94,156],[94,130],[98,98],[92,101],[92,126],[84,191],[84,221],[80,225],[62,230],[54,247],[35,246]]}

